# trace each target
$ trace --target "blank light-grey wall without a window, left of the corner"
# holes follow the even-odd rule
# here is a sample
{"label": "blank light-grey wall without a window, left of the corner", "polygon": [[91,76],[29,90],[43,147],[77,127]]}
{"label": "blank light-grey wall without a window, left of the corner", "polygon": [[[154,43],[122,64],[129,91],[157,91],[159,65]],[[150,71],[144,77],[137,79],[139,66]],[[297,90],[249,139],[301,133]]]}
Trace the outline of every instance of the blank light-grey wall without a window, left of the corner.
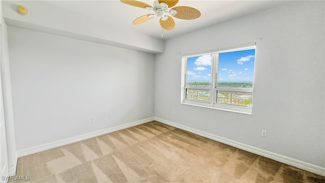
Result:
{"label": "blank light-grey wall without a window, left of the corner", "polygon": [[153,54],[10,26],[8,39],[18,151],[154,116]]}

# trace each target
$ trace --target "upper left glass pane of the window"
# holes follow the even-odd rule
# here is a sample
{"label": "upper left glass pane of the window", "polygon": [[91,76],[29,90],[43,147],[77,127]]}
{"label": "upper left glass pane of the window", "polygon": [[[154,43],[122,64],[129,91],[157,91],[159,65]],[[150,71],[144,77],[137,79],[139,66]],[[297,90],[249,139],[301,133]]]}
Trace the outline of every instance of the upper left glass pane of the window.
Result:
{"label": "upper left glass pane of the window", "polygon": [[187,57],[186,85],[211,85],[211,59],[211,54]]}

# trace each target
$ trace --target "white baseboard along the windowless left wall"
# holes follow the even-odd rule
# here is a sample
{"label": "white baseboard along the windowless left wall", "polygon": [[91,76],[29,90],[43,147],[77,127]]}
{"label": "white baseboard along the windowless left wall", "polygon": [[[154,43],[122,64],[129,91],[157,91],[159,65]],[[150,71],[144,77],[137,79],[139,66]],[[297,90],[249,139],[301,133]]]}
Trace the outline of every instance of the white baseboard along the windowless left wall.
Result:
{"label": "white baseboard along the windowless left wall", "polygon": [[17,151],[18,158],[23,157],[23,156],[27,156],[27,155],[31,155],[31,154],[34,154],[34,153],[38,153],[38,152],[43,151],[43,150],[48,150],[48,149],[59,147],[59,146],[62,146],[62,145],[67,145],[67,144],[70,144],[70,143],[78,142],[78,141],[89,139],[89,138],[92,138],[92,137],[96,137],[96,136],[104,135],[104,134],[107,134],[107,133],[115,132],[115,131],[118,131],[118,130],[126,129],[126,128],[129,128],[129,127],[134,127],[134,126],[137,126],[137,125],[148,123],[148,122],[153,121],[153,120],[154,120],[154,117],[150,117],[150,118],[147,118],[147,119],[134,121],[132,123],[119,125],[119,126],[116,126],[116,127],[111,127],[111,128],[107,128],[107,129],[104,129],[104,130],[79,135],[79,136],[76,136],[76,137],[71,137],[71,138],[68,138],[68,139],[58,140],[58,141],[50,142],[50,143],[47,143],[47,144],[42,144],[42,145],[38,145],[38,146],[34,146],[34,147],[25,148],[25,149]]}

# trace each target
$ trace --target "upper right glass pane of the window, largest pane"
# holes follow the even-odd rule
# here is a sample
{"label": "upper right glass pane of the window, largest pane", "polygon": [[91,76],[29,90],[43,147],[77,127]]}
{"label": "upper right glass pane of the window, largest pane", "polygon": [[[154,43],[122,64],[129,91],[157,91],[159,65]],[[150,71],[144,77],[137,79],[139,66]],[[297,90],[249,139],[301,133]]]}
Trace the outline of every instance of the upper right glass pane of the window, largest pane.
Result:
{"label": "upper right glass pane of the window, largest pane", "polygon": [[219,53],[218,87],[253,87],[255,49]]}

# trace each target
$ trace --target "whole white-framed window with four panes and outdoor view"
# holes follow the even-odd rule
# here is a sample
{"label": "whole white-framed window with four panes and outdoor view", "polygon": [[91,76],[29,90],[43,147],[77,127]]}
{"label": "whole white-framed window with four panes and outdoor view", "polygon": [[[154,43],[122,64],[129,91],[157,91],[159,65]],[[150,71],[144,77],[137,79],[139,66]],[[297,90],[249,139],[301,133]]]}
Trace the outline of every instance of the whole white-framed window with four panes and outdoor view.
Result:
{"label": "whole white-framed window with four panes and outdoor view", "polygon": [[255,43],[185,54],[181,103],[251,114]]}

